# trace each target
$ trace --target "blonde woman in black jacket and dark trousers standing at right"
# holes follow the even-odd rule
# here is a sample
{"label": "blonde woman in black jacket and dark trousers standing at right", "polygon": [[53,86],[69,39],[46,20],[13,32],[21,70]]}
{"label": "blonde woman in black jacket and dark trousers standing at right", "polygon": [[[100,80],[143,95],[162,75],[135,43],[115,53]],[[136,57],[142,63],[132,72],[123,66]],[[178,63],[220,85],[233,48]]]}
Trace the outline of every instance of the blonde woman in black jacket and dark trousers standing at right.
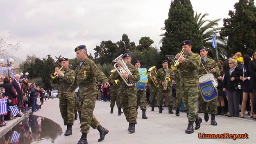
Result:
{"label": "blonde woman in black jacket and dark trousers standing at right", "polygon": [[237,61],[235,59],[229,59],[229,69],[225,72],[223,79],[223,91],[227,90],[228,104],[229,104],[229,116],[239,117],[239,80],[241,71],[237,67]]}

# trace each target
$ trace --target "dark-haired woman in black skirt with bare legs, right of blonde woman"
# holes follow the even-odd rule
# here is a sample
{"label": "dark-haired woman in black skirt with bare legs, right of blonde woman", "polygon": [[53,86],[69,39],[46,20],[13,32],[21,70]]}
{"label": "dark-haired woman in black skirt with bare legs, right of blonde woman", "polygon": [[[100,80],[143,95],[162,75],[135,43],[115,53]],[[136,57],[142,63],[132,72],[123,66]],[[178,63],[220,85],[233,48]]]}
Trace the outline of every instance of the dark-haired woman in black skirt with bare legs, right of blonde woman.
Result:
{"label": "dark-haired woman in black skirt with bare legs, right of blonde woman", "polygon": [[248,54],[245,54],[242,56],[243,58],[243,63],[244,63],[244,68],[242,70],[242,76],[240,76],[240,80],[243,81],[243,86],[242,86],[242,107],[241,107],[241,118],[244,118],[244,112],[245,112],[245,107],[246,103],[248,100],[248,94],[250,95],[250,100],[251,100],[251,118],[252,118],[252,110],[253,110],[253,93],[252,93],[252,88],[251,88],[251,74],[249,72],[249,62],[251,61],[251,58]]}

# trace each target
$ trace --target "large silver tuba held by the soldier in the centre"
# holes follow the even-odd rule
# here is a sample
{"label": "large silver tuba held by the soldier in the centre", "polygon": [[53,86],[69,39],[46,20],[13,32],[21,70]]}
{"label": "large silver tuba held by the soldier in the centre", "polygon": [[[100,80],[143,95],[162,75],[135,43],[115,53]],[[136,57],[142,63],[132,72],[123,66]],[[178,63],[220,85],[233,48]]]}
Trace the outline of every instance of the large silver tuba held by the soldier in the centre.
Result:
{"label": "large silver tuba held by the soldier in the centre", "polygon": [[[129,79],[125,79],[122,77],[123,74],[131,75],[130,70],[128,69],[128,67],[126,66],[126,63],[122,59],[122,55],[123,54],[121,54],[120,56],[118,56],[116,59],[113,60],[113,62],[115,62],[114,67],[118,72],[118,74],[121,76],[122,80],[125,82],[125,84],[127,86],[132,86],[134,85],[133,82],[129,82]],[[117,65],[120,65],[120,67],[118,68]]]}

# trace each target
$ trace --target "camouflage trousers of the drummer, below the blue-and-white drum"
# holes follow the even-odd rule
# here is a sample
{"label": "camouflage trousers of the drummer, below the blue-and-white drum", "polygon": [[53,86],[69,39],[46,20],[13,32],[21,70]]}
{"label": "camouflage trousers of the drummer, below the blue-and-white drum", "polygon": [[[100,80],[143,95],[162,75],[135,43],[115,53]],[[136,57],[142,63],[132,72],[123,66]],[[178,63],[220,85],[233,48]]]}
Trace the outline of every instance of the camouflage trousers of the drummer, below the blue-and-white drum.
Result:
{"label": "camouflage trousers of the drummer, below the blue-and-white drum", "polygon": [[[206,102],[201,95],[198,96],[199,106],[204,113],[217,114],[217,99]],[[208,109],[208,106],[210,109]]]}

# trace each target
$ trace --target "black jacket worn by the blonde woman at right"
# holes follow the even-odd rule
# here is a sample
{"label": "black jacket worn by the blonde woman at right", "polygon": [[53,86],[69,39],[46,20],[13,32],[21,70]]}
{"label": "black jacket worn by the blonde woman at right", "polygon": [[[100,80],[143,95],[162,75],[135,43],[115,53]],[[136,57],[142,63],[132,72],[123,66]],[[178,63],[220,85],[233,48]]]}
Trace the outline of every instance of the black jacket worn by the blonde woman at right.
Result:
{"label": "black jacket worn by the blonde woman at right", "polygon": [[[223,88],[226,88],[229,91],[235,91],[235,86],[238,84],[240,81],[240,76],[242,76],[242,71],[236,67],[235,70],[229,74],[229,69],[225,72],[225,76],[223,79]],[[235,80],[231,81],[231,77],[234,77]]]}

